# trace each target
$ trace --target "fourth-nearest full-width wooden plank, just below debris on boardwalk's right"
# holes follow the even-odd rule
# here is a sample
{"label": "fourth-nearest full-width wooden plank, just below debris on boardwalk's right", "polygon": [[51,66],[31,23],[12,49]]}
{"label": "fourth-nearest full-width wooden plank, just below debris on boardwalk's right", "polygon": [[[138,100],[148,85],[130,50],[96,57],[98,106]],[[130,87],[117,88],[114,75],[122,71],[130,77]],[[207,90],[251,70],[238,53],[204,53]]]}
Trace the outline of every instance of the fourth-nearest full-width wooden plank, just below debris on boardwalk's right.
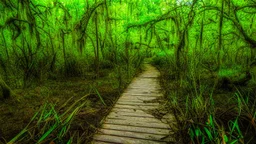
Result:
{"label": "fourth-nearest full-width wooden plank, just below debris on boardwalk's right", "polygon": [[144,121],[131,121],[130,119],[122,120],[122,119],[107,118],[104,123],[105,124],[126,125],[126,126],[158,128],[158,129],[170,129],[169,125],[164,124],[164,123],[159,123],[158,121],[145,121],[145,120]]}

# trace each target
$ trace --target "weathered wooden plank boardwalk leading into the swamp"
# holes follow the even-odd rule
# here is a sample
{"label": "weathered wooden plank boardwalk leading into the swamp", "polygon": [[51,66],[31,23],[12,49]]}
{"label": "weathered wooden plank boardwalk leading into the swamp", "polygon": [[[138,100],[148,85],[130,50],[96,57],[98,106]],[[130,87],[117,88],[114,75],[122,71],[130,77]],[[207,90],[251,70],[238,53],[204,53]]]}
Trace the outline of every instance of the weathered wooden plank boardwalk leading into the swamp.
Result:
{"label": "weathered wooden plank boardwalk leading into the swamp", "polygon": [[167,143],[171,133],[168,124],[155,118],[150,110],[159,107],[162,96],[157,77],[159,71],[145,64],[146,70],[136,77],[121,95],[92,143],[157,144]]}

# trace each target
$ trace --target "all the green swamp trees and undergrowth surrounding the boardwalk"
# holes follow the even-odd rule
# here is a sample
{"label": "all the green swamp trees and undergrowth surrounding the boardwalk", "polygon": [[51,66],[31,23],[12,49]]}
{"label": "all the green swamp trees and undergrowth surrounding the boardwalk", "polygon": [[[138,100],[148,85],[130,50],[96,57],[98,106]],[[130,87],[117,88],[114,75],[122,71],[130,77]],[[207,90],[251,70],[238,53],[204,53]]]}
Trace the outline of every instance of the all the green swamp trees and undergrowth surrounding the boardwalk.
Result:
{"label": "all the green swamp trees and undergrowth surrounding the boardwalk", "polygon": [[0,0],[0,143],[89,143],[149,61],[179,143],[256,142],[255,0]]}

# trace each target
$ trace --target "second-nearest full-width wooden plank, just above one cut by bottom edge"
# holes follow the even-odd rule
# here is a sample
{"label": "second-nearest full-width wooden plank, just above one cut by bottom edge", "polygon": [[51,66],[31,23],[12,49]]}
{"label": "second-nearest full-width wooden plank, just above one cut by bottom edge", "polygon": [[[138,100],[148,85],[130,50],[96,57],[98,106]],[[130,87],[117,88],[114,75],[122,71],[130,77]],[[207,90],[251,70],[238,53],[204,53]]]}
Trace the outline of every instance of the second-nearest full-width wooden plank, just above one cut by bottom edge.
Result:
{"label": "second-nearest full-width wooden plank, just above one cut by bottom edge", "polygon": [[127,132],[127,131],[119,131],[119,130],[111,130],[111,129],[101,129],[99,130],[99,134],[125,136],[130,138],[149,139],[149,140],[157,140],[157,141],[161,140],[161,138],[166,136],[166,135]]}

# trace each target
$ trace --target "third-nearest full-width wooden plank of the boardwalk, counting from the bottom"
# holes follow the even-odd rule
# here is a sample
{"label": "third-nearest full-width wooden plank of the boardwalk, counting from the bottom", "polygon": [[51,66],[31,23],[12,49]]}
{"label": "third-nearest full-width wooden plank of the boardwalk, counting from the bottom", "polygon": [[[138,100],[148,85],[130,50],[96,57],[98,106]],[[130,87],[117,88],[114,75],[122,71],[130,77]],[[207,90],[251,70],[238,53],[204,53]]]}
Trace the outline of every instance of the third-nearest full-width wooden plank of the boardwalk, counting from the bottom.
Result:
{"label": "third-nearest full-width wooden plank of the boardwalk, counting from the bottom", "polygon": [[146,127],[138,127],[138,126],[124,126],[124,125],[115,125],[115,124],[104,124],[102,125],[102,128],[129,131],[129,132],[148,133],[148,134],[162,134],[162,135],[167,135],[170,132],[167,129],[146,128]]}

